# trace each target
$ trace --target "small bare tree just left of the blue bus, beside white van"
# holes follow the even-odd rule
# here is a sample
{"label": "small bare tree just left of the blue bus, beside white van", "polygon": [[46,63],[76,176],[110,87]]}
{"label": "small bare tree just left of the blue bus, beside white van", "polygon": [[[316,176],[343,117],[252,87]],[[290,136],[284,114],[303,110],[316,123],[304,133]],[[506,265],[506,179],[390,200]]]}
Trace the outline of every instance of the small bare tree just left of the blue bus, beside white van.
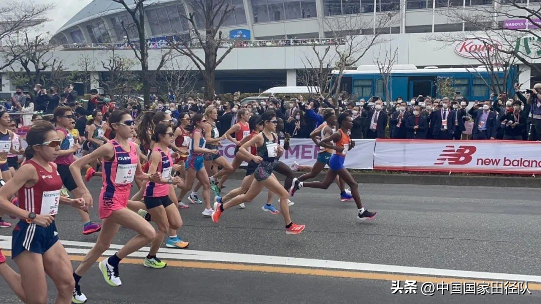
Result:
{"label": "small bare tree just left of the blue bus, beside white van", "polygon": [[[333,69],[335,61],[334,52],[329,52],[331,45],[322,47],[312,44],[310,51],[301,58],[304,69],[300,71],[300,82],[308,88],[317,87],[318,93],[324,97],[328,97],[331,93],[331,78],[329,74]],[[314,58],[315,56],[315,58]]]}

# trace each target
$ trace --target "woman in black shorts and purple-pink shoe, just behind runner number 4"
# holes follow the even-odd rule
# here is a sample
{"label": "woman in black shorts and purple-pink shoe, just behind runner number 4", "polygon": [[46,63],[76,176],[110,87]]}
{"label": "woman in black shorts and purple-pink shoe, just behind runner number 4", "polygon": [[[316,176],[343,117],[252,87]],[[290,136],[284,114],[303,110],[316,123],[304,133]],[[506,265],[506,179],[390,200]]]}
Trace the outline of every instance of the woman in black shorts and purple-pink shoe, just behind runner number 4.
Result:
{"label": "woman in black shorts and purple-pink shoe, just behind runner number 4", "polygon": [[[73,136],[68,131],[69,124],[74,118],[71,109],[68,107],[58,107],[52,114],[52,121],[56,124],[56,133],[58,133],[58,138],[62,141],[55,163],[57,164],[58,174],[60,174],[64,187],[75,197],[83,197],[83,191],[77,187],[69,170],[69,165],[75,161],[74,153],[79,149],[79,145],[74,142]],[[84,212],[83,210],[78,211],[83,222],[84,235],[100,231],[101,225],[91,222],[88,212]]]}

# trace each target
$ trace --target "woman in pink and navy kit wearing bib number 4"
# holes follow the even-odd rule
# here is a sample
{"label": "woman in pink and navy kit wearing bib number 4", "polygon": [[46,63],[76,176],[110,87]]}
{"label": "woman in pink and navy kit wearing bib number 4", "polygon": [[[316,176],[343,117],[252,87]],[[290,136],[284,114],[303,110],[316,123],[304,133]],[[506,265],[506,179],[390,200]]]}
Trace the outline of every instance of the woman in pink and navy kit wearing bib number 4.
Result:
{"label": "woman in pink and navy kit wearing bib number 4", "polygon": [[156,237],[154,228],[141,216],[127,208],[130,196],[131,184],[135,178],[140,180],[163,183],[161,174],[148,175],[141,170],[138,162],[137,146],[129,138],[134,134],[135,121],[126,110],[115,110],[109,118],[111,127],[115,131],[115,138],[103,146],[97,148],[89,155],[83,156],[71,164],[70,170],[74,175],[77,186],[83,191],[83,198],[92,206],[92,195],[86,187],[81,168],[94,159],[102,160],[103,187],[99,199],[99,213],[102,219],[102,231],[96,244],[74,272],[75,289],[72,301],[83,303],[87,300],[81,292],[79,282],[81,276],[94,265],[97,259],[109,249],[111,242],[118,233],[120,227],[134,230],[137,235],[129,240],[117,253],[99,263],[99,269],[105,282],[110,286],[122,285],[118,263],[124,257],[136,252]]}

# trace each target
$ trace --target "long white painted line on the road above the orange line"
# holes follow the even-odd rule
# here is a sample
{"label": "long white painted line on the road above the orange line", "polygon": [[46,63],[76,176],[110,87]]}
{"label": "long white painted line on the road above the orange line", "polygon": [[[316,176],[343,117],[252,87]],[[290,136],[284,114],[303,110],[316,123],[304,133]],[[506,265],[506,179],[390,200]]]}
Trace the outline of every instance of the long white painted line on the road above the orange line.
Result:
{"label": "long white painted line on the road above the orange line", "polygon": [[[77,241],[61,241],[66,251],[69,254],[84,255],[87,254],[94,243],[77,242]],[[11,236],[0,235],[0,247],[11,249]],[[111,244],[109,249],[120,249],[122,245]],[[145,257],[148,254],[149,247],[143,247],[137,252],[130,254],[129,257]],[[107,250],[103,256],[113,255],[116,250]],[[522,274],[506,274],[506,273],[490,273],[490,272],[473,272],[468,270],[452,270],[438,268],[423,268],[423,267],[408,267],[395,265],[380,265],[370,263],[355,263],[330,260],[302,259],[299,257],[287,256],[270,256],[270,255],[255,255],[241,253],[224,253],[224,252],[208,252],[200,250],[187,249],[168,249],[160,248],[161,259],[170,260],[191,260],[191,261],[210,261],[210,262],[226,262],[226,263],[243,263],[243,264],[259,264],[272,266],[288,266],[288,267],[307,267],[319,269],[339,269],[353,270],[360,272],[375,272],[375,273],[392,273],[392,274],[410,274],[410,275],[428,275],[437,277],[459,277],[463,279],[477,280],[493,280],[493,281],[527,281],[541,282],[541,276],[538,275],[522,275]]]}

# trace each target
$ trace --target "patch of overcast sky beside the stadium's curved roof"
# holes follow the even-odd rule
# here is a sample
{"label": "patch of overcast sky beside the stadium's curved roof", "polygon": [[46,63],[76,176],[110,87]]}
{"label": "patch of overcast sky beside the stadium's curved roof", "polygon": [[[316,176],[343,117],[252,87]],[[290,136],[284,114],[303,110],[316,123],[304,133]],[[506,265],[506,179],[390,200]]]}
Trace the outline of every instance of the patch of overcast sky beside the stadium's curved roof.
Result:
{"label": "patch of overcast sky beside the stadium's curved roof", "polygon": [[[0,0],[2,1],[2,0]],[[55,8],[49,12],[48,19],[51,21],[44,24],[44,31],[55,35],[56,31],[64,25],[71,17],[77,14],[84,6],[92,0],[22,0],[36,4],[54,4]]]}

